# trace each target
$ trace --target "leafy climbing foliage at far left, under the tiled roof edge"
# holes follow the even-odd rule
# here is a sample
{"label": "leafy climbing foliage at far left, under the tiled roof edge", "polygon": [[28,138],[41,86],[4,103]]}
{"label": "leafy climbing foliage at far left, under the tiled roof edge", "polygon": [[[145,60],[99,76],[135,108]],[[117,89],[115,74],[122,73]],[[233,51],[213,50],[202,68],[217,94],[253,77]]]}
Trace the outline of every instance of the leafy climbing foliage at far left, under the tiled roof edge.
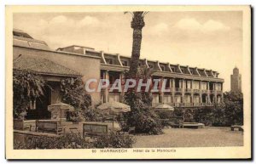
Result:
{"label": "leafy climbing foliage at far left, under the tiled roof edge", "polygon": [[34,71],[13,71],[14,117],[24,119],[31,103],[44,96],[44,87],[49,87],[44,78]]}

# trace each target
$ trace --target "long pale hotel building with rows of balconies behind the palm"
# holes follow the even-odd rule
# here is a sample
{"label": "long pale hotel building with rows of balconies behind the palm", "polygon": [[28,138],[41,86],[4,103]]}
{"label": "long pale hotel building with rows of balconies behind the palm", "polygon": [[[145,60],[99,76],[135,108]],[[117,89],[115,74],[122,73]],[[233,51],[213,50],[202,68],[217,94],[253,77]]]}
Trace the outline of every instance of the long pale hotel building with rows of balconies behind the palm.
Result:
{"label": "long pale hotel building with rows of balconies behind the palm", "polygon": [[[108,79],[111,87],[116,79],[124,78],[123,72],[129,70],[131,65],[130,57],[127,56],[77,45],[51,50],[45,42],[27,36],[29,35],[24,31],[14,30],[14,59],[20,54],[49,59],[79,72],[83,80]],[[153,106],[160,103],[184,108],[211,106],[220,103],[223,98],[224,79],[218,77],[217,71],[148,59],[140,59],[140,65],[154,70],[151,78],[160,79],[159,88],[166,79],[166,88],[170,89],[168,93],[152,93]],[[92,103],[96,105],[100,102],[122,101],[124,93],[116,90],[110,92],[109,88],[102,89],[99,93],[91,93]]]}

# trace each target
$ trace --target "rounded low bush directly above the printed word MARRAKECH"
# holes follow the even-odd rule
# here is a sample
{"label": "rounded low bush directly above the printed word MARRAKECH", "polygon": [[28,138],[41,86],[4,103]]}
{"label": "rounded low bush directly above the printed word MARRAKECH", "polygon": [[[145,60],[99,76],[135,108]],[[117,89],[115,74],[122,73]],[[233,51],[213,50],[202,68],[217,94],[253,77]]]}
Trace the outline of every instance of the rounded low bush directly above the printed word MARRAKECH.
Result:
{"label": "rounded low bush directly above the printed word MARRAKECH", "polygon": [[98,137],[93,146],[95,148],[131,148],[134,143],[135,139],[130,135],[113,133]]}

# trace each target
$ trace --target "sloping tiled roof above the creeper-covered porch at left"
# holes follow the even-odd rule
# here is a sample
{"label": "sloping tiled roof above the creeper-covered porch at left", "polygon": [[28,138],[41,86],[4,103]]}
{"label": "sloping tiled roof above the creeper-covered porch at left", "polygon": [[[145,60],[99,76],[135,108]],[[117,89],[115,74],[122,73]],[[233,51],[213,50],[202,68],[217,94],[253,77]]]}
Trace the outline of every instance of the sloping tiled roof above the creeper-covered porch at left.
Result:
{"label": "sloping tiled roof above the creeper-covered porch at left", "polygon": [[79,76],[79,72],[73,71],[63,65],[56,64],[49,59],[35,58],[21,54],[14,59],[14,69],[31,70],[42,74],[57,76]]}

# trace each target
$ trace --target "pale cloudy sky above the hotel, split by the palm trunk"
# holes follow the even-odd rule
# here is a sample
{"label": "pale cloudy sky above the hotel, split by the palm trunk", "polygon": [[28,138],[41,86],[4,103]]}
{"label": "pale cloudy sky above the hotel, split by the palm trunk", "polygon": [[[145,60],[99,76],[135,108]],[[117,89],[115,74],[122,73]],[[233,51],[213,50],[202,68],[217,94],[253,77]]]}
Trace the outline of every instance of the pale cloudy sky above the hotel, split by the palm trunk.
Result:
{"label": "pale cloudy sky above the hotel, split by the palm trunk", "polygon": [[[14,28],[43,40],[52,49],[80,45],[131,56],[131,14],[22,13]],[[218,71],[224,91],[230,75],[242,72],[242,12],[149,12],[144,18],[141,59]]]}

